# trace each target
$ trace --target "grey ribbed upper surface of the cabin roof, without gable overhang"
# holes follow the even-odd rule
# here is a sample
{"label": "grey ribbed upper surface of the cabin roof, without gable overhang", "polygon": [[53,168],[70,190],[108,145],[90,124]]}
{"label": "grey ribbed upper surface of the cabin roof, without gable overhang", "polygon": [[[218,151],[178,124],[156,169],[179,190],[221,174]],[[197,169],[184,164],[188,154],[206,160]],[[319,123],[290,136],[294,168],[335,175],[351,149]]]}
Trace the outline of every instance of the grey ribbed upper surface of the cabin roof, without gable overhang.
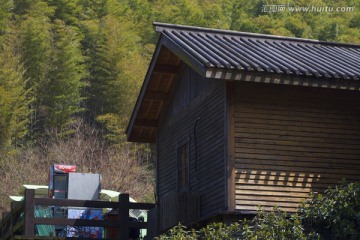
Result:
{"label": "grey ribbed upper surface of the cabin roof, without gable overhang", "polygon": [[360,79],[359,45],[164,23],[154,25],[167,41],[206,68]]}

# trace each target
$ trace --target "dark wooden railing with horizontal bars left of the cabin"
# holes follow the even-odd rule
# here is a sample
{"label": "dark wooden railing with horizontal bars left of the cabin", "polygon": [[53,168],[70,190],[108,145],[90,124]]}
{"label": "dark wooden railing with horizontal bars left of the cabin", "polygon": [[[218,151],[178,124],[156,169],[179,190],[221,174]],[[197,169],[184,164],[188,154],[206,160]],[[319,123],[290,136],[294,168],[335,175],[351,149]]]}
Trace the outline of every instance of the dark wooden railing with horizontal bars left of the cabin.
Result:
{"label": "dark wooden railing with horizontal bars left of the cabin", "polygon": [[[44,218],[35,217],[35,206],[60,206],[71,209],[94,208],[104,209],[111,208],[118,210],[117,220],[86,220],[86,219],[65,219],[65,218]],[[7,239],[34,239],[36,225],[55,225],[55,226],[87,226],[103,227],[117,229],[115,239],[129,239],[129,228],[147,229],[147,222],[129,221],[130,209],[150,210],[155,207],[151,203],[133,203],[129,201],[128,194],[120,194],[118,202],[106,201],[88,201],[88,200],[70,200],[70,199],[50,199],[35,198],[35,191],[27,189],[25,191],[25,200],[18,204],[12,204],[11,212],[3,216],[0,223],[0,240]],[[19,236],[25,238],[19,238]],[[46,239],[51,239],[48,237]],[[59,239],[54,238],[54,239]],[[84,239],[84,238],[82,238]]]}

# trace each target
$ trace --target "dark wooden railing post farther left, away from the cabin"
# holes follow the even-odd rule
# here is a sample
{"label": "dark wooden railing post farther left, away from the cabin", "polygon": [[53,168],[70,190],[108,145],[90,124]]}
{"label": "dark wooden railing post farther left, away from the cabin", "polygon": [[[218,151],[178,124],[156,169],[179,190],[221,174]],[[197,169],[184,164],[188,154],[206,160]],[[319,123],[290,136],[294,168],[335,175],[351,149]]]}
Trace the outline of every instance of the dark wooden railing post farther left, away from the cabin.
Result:
{"label": "dark wooden railing post farther left, away from the cabin", "polygon": [[24,235],[27,237],[33,237],[35,235],[35,206],[34,206],[35,190],[25,190],[25,208],[24,208]]}

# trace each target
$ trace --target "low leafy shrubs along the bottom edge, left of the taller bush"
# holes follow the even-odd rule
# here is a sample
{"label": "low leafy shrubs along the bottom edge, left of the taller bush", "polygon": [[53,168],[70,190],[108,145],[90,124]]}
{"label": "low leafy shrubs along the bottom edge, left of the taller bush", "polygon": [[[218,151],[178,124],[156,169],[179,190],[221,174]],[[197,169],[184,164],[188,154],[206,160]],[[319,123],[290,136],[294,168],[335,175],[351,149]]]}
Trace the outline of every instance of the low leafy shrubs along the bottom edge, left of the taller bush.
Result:
{"label": "low leafy shrubs along the bottom edge, left of the taller bush", "polygon": [[198,231],[187,230],[179,224],[157,240],[310,240],[318,238],[313,233],[305,234],[297,214],[289,216],[275,207],[273,212],[260,209],[252,221],[242,220],[230,225],[212,223]]}

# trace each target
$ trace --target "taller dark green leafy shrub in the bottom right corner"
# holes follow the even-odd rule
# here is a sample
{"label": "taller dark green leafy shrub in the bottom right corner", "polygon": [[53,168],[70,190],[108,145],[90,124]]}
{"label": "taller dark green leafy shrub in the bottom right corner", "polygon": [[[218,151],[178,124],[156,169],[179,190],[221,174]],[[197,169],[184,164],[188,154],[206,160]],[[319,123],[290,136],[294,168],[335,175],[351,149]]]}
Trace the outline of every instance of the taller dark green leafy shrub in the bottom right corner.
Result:
{"label": "taller dark green leafy shrub in the bottom right corner", "polygon": [[359,239],[360,183],[343,181],[324,194],[311,193],[299,213],[309,228],[326,230],[336,239]]}

